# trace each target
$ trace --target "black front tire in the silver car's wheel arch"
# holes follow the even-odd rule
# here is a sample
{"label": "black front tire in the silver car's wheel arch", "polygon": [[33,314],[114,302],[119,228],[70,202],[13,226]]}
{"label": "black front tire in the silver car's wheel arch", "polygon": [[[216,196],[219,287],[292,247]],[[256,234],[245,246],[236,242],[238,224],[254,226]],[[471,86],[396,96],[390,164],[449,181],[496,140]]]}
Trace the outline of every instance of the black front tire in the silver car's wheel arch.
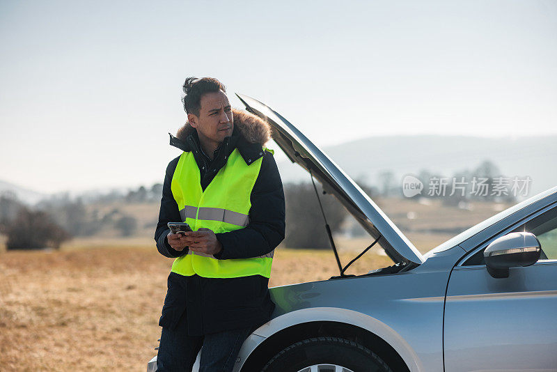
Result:
{"label": "black front tire in the silver car's wheel arch", "polygon": [[278,352],[261,371],[393,372],[365,346],[338,337],[315,337],[293,343]]}

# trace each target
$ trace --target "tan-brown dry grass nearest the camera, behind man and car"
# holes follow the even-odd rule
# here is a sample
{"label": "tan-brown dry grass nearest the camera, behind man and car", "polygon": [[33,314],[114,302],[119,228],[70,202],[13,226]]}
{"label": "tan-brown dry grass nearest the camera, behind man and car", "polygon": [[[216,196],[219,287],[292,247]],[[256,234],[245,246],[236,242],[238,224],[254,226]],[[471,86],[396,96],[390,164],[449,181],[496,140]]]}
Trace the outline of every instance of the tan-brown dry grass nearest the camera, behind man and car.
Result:
{"label": "tan-brown dry grass nearest the camera, behind man and car", "polygon": [[[145,370],[172,260],[154,247],[99,246],[0,252],[0,371]],[[386,265],[370,252],[350,271]],[[277,249],[269,285],[336,274],[331,251]]]}

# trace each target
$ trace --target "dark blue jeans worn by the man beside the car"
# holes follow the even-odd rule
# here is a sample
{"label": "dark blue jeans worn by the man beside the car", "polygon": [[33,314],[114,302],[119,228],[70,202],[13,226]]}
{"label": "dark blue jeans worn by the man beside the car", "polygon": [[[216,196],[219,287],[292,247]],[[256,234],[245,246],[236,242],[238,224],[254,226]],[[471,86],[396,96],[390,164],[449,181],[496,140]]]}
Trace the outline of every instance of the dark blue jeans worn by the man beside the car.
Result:
{"label": "dark blue jeans worn by the man beside the car", "polygon": [[252,328],[188,336],[185,318],[183,316],[173,330],[162,328],[157,371],[191,371],[201,346],[199,372],[232,371],[242,343]]}

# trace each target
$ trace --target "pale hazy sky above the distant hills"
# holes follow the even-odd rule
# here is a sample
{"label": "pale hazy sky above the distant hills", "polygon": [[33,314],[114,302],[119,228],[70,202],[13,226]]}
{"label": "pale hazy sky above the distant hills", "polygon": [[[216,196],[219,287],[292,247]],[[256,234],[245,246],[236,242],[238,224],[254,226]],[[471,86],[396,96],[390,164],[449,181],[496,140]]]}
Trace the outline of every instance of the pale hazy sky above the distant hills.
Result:
{"label": "pale hazy sky above the distant hills", "polygon": [[0,180],[40,192],[162,182],[189,76],[321,147],[557,134],[551,0],[3,0],[0,55]]}

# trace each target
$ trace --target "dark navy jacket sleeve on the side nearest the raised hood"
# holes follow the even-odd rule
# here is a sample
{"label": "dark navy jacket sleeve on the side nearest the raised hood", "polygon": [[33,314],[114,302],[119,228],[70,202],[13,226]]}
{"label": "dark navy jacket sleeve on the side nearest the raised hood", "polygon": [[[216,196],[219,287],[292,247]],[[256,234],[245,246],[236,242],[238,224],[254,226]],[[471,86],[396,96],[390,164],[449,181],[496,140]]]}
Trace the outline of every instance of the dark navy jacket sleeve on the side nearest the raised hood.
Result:
{"label": "dark navy jacket sleeve on the side nearest the raised hood", "polygon": [[264,152],[261,169],[251,190],[249,224],[245,228],[217,233],[222,251],[219,260],[263,256],[284,239],[285,205],[281,176],[274,157]]}

